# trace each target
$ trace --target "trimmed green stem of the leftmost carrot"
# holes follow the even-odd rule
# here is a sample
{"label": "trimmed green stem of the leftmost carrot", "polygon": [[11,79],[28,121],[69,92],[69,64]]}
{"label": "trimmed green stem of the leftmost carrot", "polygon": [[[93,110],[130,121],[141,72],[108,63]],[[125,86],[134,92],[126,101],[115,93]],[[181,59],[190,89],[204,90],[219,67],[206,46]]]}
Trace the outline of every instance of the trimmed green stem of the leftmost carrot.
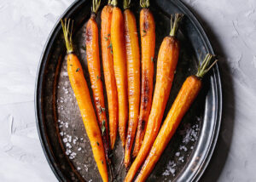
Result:
{"label": "trimmed green stem of the leftmost carrot", "polygon": [[[71,23],[71,29],[69,30],[70,21],[72,21],[72,23]],[[66,43],[67,53],[71,53],[73,52],[73,42],[72,42],[73,20],[70,20],[70,19],[68,20],[64,19],[64,21],[61,20],[61,26],[62,26],[64,39]]]}

